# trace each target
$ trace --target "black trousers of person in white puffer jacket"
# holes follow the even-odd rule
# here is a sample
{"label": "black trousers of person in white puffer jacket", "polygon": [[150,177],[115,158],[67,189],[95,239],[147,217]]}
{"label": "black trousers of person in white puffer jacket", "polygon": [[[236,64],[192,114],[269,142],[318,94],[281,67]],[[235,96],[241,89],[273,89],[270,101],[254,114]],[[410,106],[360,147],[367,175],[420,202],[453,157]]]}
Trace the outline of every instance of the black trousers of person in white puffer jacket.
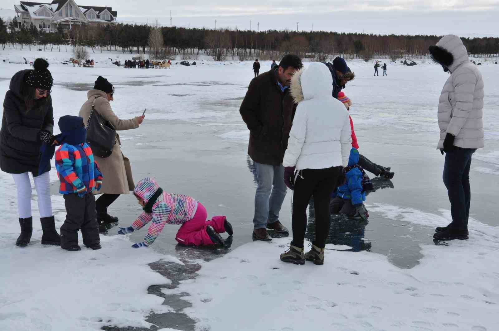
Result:
{"label": "black trousers of person in white puffer jacket", "polygon": [[293,192],[293,241],[291,245],[303,247],[305,230],[307,228],[306,210],[308,201],[313,195],[315,208],[315,241],[313,244],[319,248],[324,248],[331,222],[329,201],[340,173],[341,169],[339,166],[299,171],[299,176],[294,183]]}

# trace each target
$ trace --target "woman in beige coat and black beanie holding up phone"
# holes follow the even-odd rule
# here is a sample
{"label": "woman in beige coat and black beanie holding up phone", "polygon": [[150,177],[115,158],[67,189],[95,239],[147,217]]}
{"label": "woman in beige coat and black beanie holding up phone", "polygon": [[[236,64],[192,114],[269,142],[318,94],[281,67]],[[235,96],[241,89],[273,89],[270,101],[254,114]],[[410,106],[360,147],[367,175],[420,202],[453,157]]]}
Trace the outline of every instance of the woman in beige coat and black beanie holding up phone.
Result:
{"label": "woman in beige coat and black beanie holding up phone", "polygon": [[[122,120],[111,109],[110,101],[113,101],[114,87],[107,79],[99,76],[95,81],[93,90],[88,91],[88,100],[81,106],[79,116],[83,117],[85,126],[94,104],[95,111],[106,121],[109,121],[116,131],[137,129],[144,121],[144,116],[137,116],[131,120]],[[117,222],[118,218],[107,213],[107,207],[113,203],[120,194],[129,194],[135,187],[132,177],[130,161],[121,152],[120,136],[116,133],[116,142],[113,152],[107,158],[94,156],[104,178],[102,188],[97,194],[103,193],[95,202],[97,220],[99,222]]]}

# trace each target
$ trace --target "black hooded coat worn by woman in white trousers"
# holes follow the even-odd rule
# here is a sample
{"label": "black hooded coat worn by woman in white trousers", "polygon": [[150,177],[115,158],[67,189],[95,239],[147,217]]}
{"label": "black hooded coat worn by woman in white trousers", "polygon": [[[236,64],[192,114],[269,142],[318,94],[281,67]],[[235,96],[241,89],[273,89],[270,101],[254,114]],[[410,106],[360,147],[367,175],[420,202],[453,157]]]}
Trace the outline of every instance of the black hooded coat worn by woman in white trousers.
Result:
{"label": "black hooded coat worn by woman in white trousers", "polygon": [[[21,96],[24,76],[31,70],[21,70],[10,80],[9,90],[3,100],[3,117],[0,130],[0,168],[8,173],[32,172],[38,174],[41,130],[53,133],[54,118],[52,99],[35,101],[27,111]],[[50,170],[50,164],[44,169]]]}

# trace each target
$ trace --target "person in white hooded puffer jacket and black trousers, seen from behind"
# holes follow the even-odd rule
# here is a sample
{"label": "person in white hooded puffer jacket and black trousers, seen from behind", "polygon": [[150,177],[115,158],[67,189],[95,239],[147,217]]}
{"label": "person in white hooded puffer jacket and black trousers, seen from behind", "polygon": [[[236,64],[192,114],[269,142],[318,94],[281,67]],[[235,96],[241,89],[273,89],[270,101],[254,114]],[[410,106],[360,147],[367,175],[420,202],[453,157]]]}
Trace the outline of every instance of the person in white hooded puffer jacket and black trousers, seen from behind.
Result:
{"label": "person in white hooded puffer jacket and black trousers, seen from behind", "polygon": [[[290,93],[298,104],[284,154],[284,182],[293,194],[293,240],[281,254],[284,262],[323,264],[329,235],[331,193],[348,165],[352,143],[345,106],[331,96],[332,77],[327,66],[311,63],[291,78]],[[296,173],[295,173],[296,170]],[[303,254],[306,208],[314,197],[315,240]]]}

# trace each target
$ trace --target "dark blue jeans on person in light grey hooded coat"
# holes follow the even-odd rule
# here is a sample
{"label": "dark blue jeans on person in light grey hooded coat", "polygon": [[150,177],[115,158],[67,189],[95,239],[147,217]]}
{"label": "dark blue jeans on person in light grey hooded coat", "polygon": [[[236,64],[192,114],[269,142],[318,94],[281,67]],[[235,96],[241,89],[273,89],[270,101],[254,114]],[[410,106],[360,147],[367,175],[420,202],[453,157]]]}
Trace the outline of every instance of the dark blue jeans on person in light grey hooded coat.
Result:
{"label": "dark blue jeans on person in light grey hooded coat", "polygon": [[445,154],[444,184],[451,202],[452,226],[456,230],[468,229],[471,189],[470,166],[476,149],[454,147]]}

